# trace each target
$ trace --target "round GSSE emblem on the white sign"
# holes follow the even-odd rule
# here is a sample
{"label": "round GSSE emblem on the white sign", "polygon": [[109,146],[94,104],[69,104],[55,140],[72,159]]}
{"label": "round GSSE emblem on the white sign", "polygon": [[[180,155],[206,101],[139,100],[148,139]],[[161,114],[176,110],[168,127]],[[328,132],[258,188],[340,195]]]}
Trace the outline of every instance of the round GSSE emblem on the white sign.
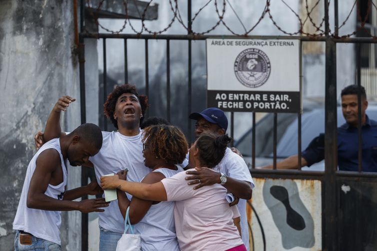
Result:
{"label": "round GSSE emblem on the white sign", "polygon": [[234,61],[234,74],[246,87],[255,88],[264,84],[271,72],[267,55],[256,48],[242,50]]}

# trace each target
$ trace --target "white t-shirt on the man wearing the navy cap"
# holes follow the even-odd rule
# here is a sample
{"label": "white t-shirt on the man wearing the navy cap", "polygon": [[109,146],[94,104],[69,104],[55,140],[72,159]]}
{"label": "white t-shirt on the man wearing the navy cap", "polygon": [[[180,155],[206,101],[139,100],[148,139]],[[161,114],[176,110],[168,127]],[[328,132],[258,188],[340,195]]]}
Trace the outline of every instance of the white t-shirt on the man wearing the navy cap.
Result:
{"label": "white t-shirt on the man wearing the navy cap", "polygon": [[[243,158],[236,153],[233,153],[230,148],[226,148],[225,155],[218,163],[217,166],[213,168],[214,171],[223,173],[230,178],[247,181],[251,183],[251,188],[254,188],[254,182],[252,181],[250,171],[247,168],[247,165]],[[239,199],[237,204],[238,211],[240,214],[240,227],[242,234],[242,241],[246,247],[246,250],[249,250],[249,240],[248,240],[248,225],[246,217],[246,200]]]}

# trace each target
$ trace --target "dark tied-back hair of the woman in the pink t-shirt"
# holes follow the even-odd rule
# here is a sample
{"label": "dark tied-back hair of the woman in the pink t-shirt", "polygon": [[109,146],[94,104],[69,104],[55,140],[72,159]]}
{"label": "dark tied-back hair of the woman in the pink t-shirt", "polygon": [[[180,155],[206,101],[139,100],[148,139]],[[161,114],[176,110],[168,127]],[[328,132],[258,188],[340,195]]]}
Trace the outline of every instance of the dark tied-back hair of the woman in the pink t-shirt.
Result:
{"label": "dark tied-back hair of the woman in the pink t-shirt", "polygon": [[200,164],[207,168],[215,167],[224,157],[226,145],[230,141],[231,138],[227,134],[217,136],[212,132],[201,133],[195,141]]}

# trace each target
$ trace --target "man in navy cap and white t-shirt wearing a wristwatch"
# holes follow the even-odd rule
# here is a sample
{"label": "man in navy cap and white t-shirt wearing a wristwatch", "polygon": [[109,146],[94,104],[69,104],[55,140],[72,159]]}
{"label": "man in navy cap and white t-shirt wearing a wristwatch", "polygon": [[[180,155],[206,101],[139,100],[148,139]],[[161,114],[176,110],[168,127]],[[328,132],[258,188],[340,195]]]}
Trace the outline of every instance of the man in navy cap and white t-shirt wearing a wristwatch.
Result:
{"label": "man in navy cap and white t-shirt wearing a wristwatch", "polygon": [[[228,127],[224,112],[214,107],[204,109],[200,113],[191,113],[189,118],[196,120],[196,138],[202,132],[208,131],[223,135]],[[216,167],[213,169],[196,167],[195,169],[196,171],[186,171],[186,174],[192,175],[186,177],[186,180],[192,180],[188,185],[198,184],[195,186],[197,189],[218,183],[240,199],[237,208],[240,214],[241,238],[246,249],[249,250],[246,200],[251,199],[254,183],[244,160],[233,153],[230,148],[226,148],[224,157]]]}

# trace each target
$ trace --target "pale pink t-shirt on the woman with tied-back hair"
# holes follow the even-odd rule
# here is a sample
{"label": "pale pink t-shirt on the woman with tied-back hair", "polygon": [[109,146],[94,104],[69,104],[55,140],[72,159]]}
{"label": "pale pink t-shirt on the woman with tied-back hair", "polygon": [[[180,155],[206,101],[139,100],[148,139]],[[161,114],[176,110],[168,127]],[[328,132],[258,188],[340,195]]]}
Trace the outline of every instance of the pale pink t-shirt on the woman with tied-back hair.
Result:
{"label": "pale pink t-shirt on the woman with tied-back hair", "polygon": [[[193,169],[190,169],[193,170]],[[168,201],[175,201],[175,231],[181,251],[224,251],[242,243],[233,212],[220,184],[193,190],[180,172],[161,180]]]}

